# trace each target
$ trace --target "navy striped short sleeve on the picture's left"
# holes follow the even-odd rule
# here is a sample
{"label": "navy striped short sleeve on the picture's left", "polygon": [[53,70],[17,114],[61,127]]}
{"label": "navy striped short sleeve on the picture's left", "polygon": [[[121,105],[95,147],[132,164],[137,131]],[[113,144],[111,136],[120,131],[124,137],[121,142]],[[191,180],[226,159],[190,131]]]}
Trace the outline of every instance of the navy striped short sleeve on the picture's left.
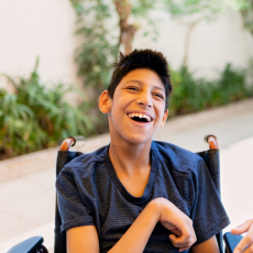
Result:
{"label": "navy striped short sleeve on the picture's left", "polygon": [[95,224],[92,212],[84,205],[73,172],[65,167],[56,179],[61,231]]}

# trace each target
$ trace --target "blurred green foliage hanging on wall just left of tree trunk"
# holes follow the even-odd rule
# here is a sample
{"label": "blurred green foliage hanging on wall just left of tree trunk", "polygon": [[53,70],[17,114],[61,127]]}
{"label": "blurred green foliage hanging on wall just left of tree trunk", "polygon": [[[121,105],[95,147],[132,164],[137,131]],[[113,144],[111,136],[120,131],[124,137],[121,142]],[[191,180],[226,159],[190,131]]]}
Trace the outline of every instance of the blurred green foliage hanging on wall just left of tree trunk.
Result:
{"label": "blurred green foliage hanging on wall just left of tree trunk", "polygon": [[78,75],[85,77],[84,86],[92,87],[95,97],[108,86],[112,73],[112,64],[117,59],[118,40],[106,28],[111,23],[113,6],[105,0],[70,0],[76,15],[76,34],[80,37],[80,45],[76,50]]}

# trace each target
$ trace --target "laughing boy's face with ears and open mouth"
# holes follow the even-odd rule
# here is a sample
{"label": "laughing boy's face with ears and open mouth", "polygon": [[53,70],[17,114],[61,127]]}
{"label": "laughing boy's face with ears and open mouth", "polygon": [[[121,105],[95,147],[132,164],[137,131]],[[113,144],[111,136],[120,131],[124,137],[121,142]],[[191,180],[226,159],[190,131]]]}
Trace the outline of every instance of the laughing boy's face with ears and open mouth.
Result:
{"label": "laughing boy's face with ears and open mouth", "polygon": [[158,75],[151,69],[130,72],[117,86],[113,99],[106,90],[99,102],[100,110],[109,116],[112,142],[151,142],[167,119],[165,88]]}

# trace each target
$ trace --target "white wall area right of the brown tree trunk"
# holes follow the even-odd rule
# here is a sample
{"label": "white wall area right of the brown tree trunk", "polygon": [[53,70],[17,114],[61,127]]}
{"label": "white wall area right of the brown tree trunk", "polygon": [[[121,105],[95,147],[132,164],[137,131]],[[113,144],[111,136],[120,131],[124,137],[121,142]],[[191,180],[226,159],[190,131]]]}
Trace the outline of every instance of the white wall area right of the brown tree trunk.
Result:
{"label": "white wall area right of the brown tree trunk", "polygon": [[[170,66],[178,69],[184,58],[184,43],[187,29],[164,12],[153,12],[158,21],[158,40],[153,42],[136,34],[134,47],[151,47],[161,51]],[[145,28],[143,28],[145,29]],[[253,57],[253,37],[243,30],[239,12],[220,15],[215,22],[200,22],[195,28],[189,51],[189,67],[196,75],[215,78],[217,70],[227,63],[246,67]]]}

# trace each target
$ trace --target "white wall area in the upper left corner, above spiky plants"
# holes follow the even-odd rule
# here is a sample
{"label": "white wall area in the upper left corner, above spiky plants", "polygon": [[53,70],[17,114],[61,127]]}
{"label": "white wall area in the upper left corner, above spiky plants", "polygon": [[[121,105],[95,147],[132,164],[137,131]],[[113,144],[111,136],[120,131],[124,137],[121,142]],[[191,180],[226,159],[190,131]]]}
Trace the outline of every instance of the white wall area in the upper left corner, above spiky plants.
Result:
{"label": "white wall area in the upper left corner, above spiky plants", "polygon": [[75,18],[68,0],[1,0],[0,74],[28,76],[38,55],[42,81],[80,82]]}

